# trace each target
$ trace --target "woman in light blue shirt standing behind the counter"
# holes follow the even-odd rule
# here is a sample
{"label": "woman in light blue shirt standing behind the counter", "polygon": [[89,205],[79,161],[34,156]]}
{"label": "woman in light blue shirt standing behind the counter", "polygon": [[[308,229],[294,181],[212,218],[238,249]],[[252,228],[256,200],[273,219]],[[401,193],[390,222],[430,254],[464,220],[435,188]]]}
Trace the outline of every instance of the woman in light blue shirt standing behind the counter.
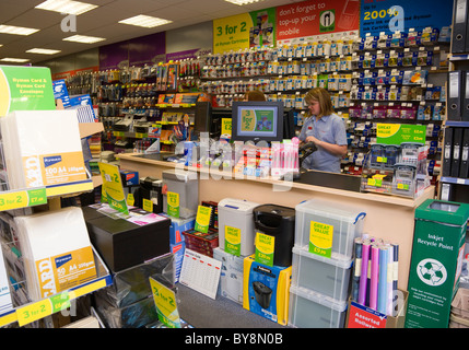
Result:
{"label": "woman in light blue shirt standing behind the counter", "polygon": [[340,173],[340,160],[347,154],[345,124],[332,107],[327,90],[315,88],[305,96],[309,117],[303,124],[300,141],[314,142],[317,150],[304,162],[303,167]]}

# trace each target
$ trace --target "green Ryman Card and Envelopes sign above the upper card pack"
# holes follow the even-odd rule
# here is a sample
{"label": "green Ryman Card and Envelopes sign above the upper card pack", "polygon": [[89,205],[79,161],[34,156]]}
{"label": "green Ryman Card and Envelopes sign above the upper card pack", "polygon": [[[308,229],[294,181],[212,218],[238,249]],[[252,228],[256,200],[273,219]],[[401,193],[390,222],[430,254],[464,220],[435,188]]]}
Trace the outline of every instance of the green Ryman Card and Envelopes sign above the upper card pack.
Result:
{"label": "green Ryman Card and Envelopes sign above the upper card pack", "polygon": [[14,110],[54,110],[52,79],[45,67],[0,66],[0,117]]}

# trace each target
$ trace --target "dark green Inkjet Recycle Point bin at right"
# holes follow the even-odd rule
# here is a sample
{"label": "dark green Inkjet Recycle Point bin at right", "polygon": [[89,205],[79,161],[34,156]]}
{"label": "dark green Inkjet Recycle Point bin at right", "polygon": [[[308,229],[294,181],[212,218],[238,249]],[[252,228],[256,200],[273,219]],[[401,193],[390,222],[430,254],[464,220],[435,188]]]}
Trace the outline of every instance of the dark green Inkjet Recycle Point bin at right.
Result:
{"label": "dark green Inkjet Recycle Point bin at right", "polygon": [[468,219],[468,203],[427,199],[415,209],[406,328],[448,327]]}

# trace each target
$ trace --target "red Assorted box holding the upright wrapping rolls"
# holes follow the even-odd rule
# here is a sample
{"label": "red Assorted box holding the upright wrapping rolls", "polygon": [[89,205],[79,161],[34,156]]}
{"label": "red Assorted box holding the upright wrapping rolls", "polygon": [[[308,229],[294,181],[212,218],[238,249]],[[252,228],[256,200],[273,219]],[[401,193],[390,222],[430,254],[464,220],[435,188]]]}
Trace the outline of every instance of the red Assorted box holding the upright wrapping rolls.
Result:
{"label": "red Assorted box holding the upright wrapping rolls", "polygon": [[[406,323],[408,291],[399,290],[397,316],[386,316],[349,300],[347,308],[347,328],[403,328]],[[352,314],[352,315],[351,315]]]}

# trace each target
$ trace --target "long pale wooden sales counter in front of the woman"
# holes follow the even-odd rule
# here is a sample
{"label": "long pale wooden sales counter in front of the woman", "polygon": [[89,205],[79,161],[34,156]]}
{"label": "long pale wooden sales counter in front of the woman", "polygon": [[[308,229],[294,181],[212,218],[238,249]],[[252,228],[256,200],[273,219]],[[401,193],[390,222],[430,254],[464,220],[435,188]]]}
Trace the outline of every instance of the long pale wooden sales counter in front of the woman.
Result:
{"label": "long pale wooden sales counter in front of the woman", "polygon": [[199,201],[220,201],[237,198],[259,203],[275,203],[294,208],[304,200],[324,199],[329,202],[350,205],[366,212],[364,233],[399,245],[398,287],[407,290],[410,256],[412,252],[414,211],[424,200],[434,198],[435,188],[429,187],[419,198],[404,198],[373,192],[356,192],[273,178],[257,178],[207,168],[185,167],[181,164],[154,161],[119,154],[121,170],[138,171],[140,177],[162,178],[162,172],[177,167],[180,171],[199,172]]}

